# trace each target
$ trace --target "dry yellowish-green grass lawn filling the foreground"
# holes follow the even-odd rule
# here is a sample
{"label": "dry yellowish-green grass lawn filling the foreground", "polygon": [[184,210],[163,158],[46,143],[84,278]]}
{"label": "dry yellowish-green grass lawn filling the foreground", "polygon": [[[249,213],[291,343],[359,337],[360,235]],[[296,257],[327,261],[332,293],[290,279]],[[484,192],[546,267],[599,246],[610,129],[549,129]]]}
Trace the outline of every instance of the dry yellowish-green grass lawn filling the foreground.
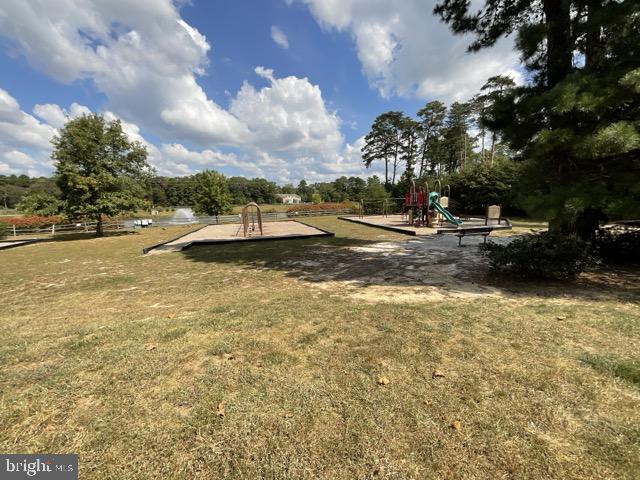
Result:
{"label": "dry yellowish-green grass lawn filling the foreground", "polygon": [[0,451],[78,453],[83,479],[638,478],[638,271],[365,301],[349,274],[408,237],[305,222],[336,237],[0,251]]}

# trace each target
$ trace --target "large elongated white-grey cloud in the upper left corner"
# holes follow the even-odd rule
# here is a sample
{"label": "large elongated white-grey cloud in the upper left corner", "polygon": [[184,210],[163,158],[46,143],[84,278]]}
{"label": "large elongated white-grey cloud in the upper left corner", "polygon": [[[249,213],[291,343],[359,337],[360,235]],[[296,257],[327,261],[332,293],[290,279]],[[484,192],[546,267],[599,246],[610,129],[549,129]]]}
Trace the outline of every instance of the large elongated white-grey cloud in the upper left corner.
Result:
{"label": "large elongated white-grey cloud in the upper left corner", "polygon": [[66,83],[93,80],[109,109],[159,135],[203,145],[245,139],[245,127],[198,85],[210,45],[171,0],[6,0],[0,32],[35,68]]}

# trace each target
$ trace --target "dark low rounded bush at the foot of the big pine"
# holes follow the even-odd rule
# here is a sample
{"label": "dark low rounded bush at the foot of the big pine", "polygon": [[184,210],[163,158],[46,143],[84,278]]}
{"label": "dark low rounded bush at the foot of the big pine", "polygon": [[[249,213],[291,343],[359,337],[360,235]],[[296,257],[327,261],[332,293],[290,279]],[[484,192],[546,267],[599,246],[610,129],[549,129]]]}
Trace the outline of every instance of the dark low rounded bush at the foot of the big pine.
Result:
{"label": "dark low rounded bush at the foot of the big pine", "polygon": [[520,237],[508,245],[489,242],[480,250],[489,258],[492,271],[524,278],[573,279],[596,263],[584,242],[548,232]]}

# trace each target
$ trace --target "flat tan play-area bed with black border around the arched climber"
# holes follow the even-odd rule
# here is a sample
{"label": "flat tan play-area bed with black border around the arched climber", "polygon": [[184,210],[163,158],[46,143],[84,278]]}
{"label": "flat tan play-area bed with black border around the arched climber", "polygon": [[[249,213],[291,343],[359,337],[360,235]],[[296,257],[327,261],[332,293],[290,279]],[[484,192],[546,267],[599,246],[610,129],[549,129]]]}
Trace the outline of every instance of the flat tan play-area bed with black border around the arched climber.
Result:
{"label": "flat tan play-area bed with black border around the arched climber", "polygon": [[[224,225],[205,225],[204,227],[174,238],[167,242],[153,245],[143,249],[143,253],[176,252],[191,248],[194,245],[211,245],[235,242],[258,242],[265,240],[291,240],[310,237],[333,236],[332,232],[321,230],[295,220],[283,222],[264,222],[262,224],[263,235],[259,230],[250,232],[247,237],[243,235],[242,224],[228,223]],[[258,226],[256,224],[256,230]]]}

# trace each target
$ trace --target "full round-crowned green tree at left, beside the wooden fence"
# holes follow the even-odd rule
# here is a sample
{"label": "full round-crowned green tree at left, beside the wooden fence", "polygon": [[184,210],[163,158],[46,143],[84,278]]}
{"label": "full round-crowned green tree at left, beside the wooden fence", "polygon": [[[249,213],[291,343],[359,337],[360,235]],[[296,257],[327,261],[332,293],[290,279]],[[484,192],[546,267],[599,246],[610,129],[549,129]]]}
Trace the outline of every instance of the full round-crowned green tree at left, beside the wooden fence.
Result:
{"label": "full round-crowned green tree at left, beside the wooden fence", "polygon": [[91,114],[69,120],[53,140],[57,184],[67,216],[89,217],[103,234],[103,216],[144,206],[147,150],[131,142],[119,120]]}

